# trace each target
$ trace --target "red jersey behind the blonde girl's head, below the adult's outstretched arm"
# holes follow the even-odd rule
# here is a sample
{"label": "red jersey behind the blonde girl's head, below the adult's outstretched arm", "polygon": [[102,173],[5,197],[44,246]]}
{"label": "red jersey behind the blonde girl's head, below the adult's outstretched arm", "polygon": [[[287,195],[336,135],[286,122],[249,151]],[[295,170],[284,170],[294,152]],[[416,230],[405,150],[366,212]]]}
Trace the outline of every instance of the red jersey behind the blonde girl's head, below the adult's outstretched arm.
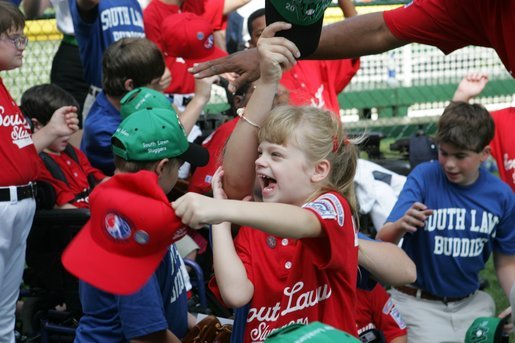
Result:
{"label": "red jersey behind the blonde girl's head, below the adult's outstretched arm", "polygon": [[290,91],[291,105],[311,105],[339,114],[338,94],[359,66],[359,59],[302,60],[283,74],[281,84]]}

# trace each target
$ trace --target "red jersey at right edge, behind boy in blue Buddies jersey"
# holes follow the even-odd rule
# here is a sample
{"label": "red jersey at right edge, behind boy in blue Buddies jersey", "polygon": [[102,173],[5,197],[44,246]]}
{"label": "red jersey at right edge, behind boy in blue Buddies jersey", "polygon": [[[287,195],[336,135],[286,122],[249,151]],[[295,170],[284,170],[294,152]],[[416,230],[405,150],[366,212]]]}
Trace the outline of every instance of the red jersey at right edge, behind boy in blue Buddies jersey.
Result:
{"label": "red jersey at right edge, behind boy in blue Buddies jersey", "polygon": [[494,111],[491,115],[495,122],[495,135],[490,143],[492,156],[499,176],[515,192],[515,107]]}

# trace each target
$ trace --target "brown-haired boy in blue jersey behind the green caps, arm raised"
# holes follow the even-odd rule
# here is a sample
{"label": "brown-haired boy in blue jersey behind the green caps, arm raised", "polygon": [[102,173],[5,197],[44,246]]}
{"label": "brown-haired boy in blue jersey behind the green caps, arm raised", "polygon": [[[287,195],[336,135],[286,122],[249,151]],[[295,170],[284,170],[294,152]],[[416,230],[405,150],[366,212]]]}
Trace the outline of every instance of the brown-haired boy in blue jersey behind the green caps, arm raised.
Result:
{"label": "brown-haired boy in blue jersey behind the green caps, arm raised", "polygon": [[[165,62],[159,48],[146,38],[123,38],[109,46],[103,56],[103,91],[98,94],[84,122],[81,150],[91,164],[106,175],[113,175],[111,136],[122,121],[122,98],[138,87],[159,90]],[[195,83],[195,95],[180,113],[186,134],[209,101],[216,77]],[[171,104],[169,109],[171,110]]]}

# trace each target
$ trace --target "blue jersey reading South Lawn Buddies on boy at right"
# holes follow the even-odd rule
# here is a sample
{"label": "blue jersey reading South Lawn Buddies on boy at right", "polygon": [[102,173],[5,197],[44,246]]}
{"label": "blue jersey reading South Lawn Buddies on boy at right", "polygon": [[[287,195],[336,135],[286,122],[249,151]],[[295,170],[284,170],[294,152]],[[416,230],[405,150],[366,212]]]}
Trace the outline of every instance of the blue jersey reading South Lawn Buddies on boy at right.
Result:
{"label": "blue jersey reading South Lawn Buddies on boy at right", "polygon": [[438,162],[417,166],[386,220],[397,221],[417,201],[434,210],[402,243],[417,266],[414,285],[441,297],[476,291],[492,251],[515,254],[514,200],[511,189],[483,168],[476,182],[460,186],[447,180]]}

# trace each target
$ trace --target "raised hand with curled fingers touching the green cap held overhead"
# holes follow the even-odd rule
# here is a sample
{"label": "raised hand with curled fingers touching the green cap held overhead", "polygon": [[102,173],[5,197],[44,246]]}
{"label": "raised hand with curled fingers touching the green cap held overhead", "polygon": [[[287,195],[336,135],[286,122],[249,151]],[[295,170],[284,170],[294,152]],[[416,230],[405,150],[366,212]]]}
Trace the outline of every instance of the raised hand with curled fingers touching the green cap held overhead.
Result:
{"label": "raised hand with curled fingers touching the green cap held overhead", "polygon": [[284,37],[275,37],[278,31],[288,30],[291,24],[275,22],[268,25],[257,42],[261,80],[279,82],[283,70],[290,69],[300,57],[297,46]]}

